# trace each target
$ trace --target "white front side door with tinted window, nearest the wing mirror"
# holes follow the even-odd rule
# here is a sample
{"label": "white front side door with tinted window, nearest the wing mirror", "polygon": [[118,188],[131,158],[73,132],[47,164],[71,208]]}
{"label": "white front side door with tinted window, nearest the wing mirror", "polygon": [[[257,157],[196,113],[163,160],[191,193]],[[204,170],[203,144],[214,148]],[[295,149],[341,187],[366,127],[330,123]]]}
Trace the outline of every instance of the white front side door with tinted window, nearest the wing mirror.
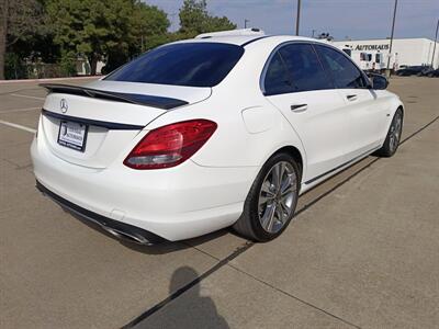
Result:
{"label": "white front side door with tinted window, nearest the wing mirror", "polygon": [[331,76],[345,102],[349,120],[346,127],[348,160],[370,152],[379,146],[385,123],[385,109],[365,75],[342,52],[315,45],[320,61]]}

